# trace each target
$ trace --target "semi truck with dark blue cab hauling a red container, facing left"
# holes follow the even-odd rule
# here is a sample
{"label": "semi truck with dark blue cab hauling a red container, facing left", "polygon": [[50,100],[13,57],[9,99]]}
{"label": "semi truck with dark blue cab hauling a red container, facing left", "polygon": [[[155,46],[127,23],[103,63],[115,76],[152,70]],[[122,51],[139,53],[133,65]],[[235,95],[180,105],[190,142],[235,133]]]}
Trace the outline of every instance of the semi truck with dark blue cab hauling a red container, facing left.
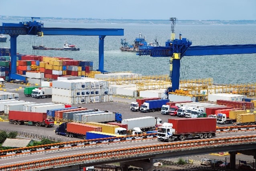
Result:
{"label": "semi truck with dark blue cab hauling a red container, facing left", "polygon": [[55,129],[55,134],[67,137],[83,137],[85,139],[86,133],[89,131],[102,132],[102,127],[83,123],[64,122]]}

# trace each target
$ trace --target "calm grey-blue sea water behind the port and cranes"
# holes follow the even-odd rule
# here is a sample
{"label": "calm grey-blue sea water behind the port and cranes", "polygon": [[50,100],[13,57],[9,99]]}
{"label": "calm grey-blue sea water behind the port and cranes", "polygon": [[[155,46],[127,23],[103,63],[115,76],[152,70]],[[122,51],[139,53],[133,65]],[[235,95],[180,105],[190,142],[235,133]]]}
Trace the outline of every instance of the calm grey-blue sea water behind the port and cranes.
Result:
{"label": "calm grey-blue sea water behind the port and cranes", "polygon": [[[0,21],[8,22],[8,21]],[[17,23],[16,21],[14,23]],[[143,75],[169,74],[169,58],[137,56],[134,52],[121,52],[120,39],[132,44],[139,33],[147,42],[157,38],[161,45],[170,39],[171,24],[85,24],[44,22],[45,27],[63,28],[124,28],[124,36],[106,36],[104,39],[104,70],[132,71]],[[182,37],[194,45],[256,44],[256,25],[185,25],[176,22],[176,38]],[[70,57],[76,60],[92,60],[98,69],[98,36],[44,36],[47,47],[62,48],[65,40],[77,44],[80,51],[33,50],[32,45],[42,43],[37,36],[20,35],[17,52],[42,56]],[[10,47],[1,43],[0,47]],[[213,78],[215,83],[240,84],[256,82],[256,54],[185,56],[181,60],[181,79]]]}

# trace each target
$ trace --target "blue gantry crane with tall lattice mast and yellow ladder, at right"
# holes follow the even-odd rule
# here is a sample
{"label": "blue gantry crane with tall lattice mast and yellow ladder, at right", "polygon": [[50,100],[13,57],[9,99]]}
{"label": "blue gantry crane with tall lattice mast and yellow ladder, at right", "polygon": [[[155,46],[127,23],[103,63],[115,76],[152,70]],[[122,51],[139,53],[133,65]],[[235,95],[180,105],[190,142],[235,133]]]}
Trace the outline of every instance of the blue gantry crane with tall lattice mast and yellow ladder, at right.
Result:
{"label": "blue gantry crane with tall lattice mast and yellow ladder, at right", "polygon": [[138,55],[150,55],[153,57],[170,57],[170,79],[172,87],[169,92],[179,90],[180,66],[183,56],[205,56],[224,54],[250,54],[256,53],[256,44],[236,44],[236,45],[212,45],[212,46],[191,46],[192,42],[186,38],[175,39],[175,22],[177,18],[171,20],[171,39],[165,42],[165,46],[139,49]]}

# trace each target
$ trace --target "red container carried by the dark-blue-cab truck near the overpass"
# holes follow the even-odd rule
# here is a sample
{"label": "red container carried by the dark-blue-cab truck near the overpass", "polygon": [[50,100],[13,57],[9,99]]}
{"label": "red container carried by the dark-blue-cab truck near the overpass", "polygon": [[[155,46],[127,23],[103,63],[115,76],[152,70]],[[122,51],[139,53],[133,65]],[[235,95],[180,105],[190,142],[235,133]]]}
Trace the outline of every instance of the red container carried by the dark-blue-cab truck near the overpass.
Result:
{"label": "red container carried by the dark-blue-cab truck near the overpass", "polygon": [[86,135],[86,132],[97,131],[102,132],[102,127],[86,125],[82,123],[69,122],[67,123],[67,132]]}

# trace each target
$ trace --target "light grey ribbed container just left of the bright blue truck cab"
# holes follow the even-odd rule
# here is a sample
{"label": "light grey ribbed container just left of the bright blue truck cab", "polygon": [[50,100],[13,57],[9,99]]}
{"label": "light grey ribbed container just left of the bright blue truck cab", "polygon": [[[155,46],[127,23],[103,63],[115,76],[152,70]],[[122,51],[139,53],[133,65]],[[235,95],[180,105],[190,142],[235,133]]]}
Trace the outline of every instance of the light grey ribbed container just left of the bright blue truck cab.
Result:
{"label": "light grey ribbed container just left of the bright blue truck cab", "polygon": [[115,113],[98,113],[98,114],[89,114],[89,115],[82,115],[83,123],[87,122],[111,122],[116,120]]}

